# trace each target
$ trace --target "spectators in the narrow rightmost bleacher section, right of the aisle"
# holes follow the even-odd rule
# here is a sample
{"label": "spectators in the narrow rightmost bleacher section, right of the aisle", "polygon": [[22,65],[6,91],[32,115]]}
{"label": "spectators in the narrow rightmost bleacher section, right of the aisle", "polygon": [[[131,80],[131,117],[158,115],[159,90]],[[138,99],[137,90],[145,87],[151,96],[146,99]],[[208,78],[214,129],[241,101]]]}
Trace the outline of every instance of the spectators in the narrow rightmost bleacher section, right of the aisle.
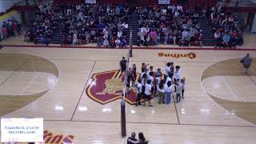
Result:
{"label": "spectators in the narrow rightmost bleacher section, right of the aisle", "polygon": [[207,8],[214,31],[215,46],[243,46],[243,31],[236,14],[226,12],[225,6]]}

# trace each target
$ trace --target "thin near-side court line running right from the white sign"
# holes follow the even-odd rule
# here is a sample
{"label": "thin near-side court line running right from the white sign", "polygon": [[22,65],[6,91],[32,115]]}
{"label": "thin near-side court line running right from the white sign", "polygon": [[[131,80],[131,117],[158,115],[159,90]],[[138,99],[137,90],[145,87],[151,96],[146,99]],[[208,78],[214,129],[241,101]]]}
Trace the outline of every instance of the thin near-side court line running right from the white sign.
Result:
{"label": "thin near-side court line running right from the white sign", "polygon": [[[44,119],[46,122],[94,122],[94,123],[120,123],[118,121],[79,121],[79,120],[49,120]],[[164,122],[126,122],[129,124],[151,124],[151,125],[168,125],[168,126],[216,126],[216,127],[248,127],[256,128],[256,126],[241,126],[241,125],[200,125],[193,123],[164,123]]]}

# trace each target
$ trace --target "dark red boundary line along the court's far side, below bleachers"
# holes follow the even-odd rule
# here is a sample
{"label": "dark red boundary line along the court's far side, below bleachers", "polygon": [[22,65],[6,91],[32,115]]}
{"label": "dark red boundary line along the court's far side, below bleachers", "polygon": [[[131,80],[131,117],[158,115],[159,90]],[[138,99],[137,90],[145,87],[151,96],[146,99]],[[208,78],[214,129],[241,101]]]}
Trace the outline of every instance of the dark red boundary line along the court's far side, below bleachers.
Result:
{"label": "dark red boundary line along the court's far side, below bleachers", "polygon": [[[1,46],[0,46],[1,47]],[[127,48],[102,48],[98,46],[30,46],[30,45],[2,45],[2,47],[35,47],[35,48],[80,48],[80,49],[110,49],[110,50],[125,50]],[[198,47],[133,47],[134,50],[220,50],[220,51],[256,51],[256,49],[215,49],[215,48],[198,48]]]}

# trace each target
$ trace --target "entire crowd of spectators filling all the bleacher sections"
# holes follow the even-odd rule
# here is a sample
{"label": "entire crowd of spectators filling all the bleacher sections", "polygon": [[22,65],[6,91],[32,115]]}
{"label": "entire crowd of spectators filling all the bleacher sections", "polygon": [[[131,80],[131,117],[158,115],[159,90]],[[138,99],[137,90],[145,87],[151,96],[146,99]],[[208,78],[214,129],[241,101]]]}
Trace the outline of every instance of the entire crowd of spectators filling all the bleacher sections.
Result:
{"label": "entire crowd of spectators filling all the bleacher sections", "polygon": [[102,47],[124,47],[127,45],[128,18],[130,14],[138,14],[138,46],[202,46],[199,16],[210,18],[215,46],[243,45],[237,16],[226,13],[223,6],[188,9],[181,5],[154,5],[130,9],[109,4],[41,5],[25,40],[47,45],[57,33],[62,37],[62,46],[94,42]]}

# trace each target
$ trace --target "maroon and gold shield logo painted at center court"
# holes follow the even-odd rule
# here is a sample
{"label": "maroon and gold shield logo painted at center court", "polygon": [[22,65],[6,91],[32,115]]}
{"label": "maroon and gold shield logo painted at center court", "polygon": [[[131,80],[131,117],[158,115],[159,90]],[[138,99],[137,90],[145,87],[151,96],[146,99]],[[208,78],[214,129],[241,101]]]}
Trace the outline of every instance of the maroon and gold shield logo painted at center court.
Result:
{"label": "maroon and gold shield logo painted at center court", "polygon": [[[136,75],[136,79],[140,74]],[[86,94],[89,98],[101,104],[113,102],[122,98],[123,88],[122,74],[120,70],[111,70],[101,73],[95,73],[90,79],[89,86],[86,87]],[[136,101],[136,88],[133,87],[126,94],[125,101],[134,104]]]}

